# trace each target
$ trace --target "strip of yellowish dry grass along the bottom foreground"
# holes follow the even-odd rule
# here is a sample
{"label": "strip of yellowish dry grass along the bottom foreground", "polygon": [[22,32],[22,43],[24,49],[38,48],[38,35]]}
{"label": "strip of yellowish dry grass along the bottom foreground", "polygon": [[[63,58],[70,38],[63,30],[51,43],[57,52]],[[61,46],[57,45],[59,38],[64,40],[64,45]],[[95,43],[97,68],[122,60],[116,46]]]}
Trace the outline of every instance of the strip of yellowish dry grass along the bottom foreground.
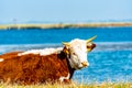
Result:
{"label": "strip of yellowish dry grass along the bottom foreground", "polygon": [[102,82],[102,84],[46,84],[46,85],[29,85],[29,86],[20,86],[20,85],[7,85],[0,84],[0,88],[132,88],[132,82]]}

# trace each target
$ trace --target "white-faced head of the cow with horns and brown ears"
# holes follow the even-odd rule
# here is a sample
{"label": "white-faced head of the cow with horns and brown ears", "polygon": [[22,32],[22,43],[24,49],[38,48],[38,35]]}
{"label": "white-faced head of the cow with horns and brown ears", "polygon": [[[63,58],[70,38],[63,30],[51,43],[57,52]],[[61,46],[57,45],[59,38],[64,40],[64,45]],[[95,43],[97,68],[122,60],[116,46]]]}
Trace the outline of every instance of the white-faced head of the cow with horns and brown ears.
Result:
{"label": "white-faced head of the cow with horns and brown ears", "polygon": [[87,41],[76,38],[69,43],[63,43],[64,52],[67,54],[72,68],[80,69],[89,65],[87,53],[96,47],[96,44],[91,42],[95,38],[96,36]]}

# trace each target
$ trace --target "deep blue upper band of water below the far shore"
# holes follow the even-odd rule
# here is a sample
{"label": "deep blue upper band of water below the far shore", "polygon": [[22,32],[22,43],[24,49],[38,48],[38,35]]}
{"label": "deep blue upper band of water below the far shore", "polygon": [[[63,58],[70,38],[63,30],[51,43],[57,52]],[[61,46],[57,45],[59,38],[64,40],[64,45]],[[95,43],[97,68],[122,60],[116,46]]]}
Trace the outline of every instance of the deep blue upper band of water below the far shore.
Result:
{"label": "deep blue upper band of water below the far shore", "polygon": [[87,40],[94,35],[98,35],[96,42],[130,42],[132,28],[8,30],[0,31],[0,44],[61,43],[76,37]]}

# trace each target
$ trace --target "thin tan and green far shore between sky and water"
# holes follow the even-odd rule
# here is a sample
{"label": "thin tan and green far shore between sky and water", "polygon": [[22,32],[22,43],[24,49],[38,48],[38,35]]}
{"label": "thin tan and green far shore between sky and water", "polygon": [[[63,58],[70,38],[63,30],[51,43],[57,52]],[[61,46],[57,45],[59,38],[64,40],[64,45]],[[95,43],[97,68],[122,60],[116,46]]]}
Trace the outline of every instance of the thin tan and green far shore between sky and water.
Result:
{"label": "thin tan and green far shore between sky and water", "polygon": [[132,22],[0,24],[0,30],[132,26]]}

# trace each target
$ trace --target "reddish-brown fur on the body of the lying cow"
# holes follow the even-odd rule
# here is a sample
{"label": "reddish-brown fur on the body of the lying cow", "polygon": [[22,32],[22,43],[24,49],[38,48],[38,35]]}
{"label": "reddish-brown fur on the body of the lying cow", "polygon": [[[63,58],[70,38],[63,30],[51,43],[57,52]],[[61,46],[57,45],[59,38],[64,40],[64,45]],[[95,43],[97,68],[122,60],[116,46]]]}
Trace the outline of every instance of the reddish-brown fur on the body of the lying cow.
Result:
{"label": "reddish-brown fur on the body of the lying cow", "polygon": [[[20,52],[0,55],[0,79],[21,85],[55,82],[59,77],[73,77],[74,70],[70,68],[64,52],[41,56],[38,54],[26,54],[18,56]],[[69,78],[69,80],[70,80]],[[69,81],[66,80],[66,81]]]}

